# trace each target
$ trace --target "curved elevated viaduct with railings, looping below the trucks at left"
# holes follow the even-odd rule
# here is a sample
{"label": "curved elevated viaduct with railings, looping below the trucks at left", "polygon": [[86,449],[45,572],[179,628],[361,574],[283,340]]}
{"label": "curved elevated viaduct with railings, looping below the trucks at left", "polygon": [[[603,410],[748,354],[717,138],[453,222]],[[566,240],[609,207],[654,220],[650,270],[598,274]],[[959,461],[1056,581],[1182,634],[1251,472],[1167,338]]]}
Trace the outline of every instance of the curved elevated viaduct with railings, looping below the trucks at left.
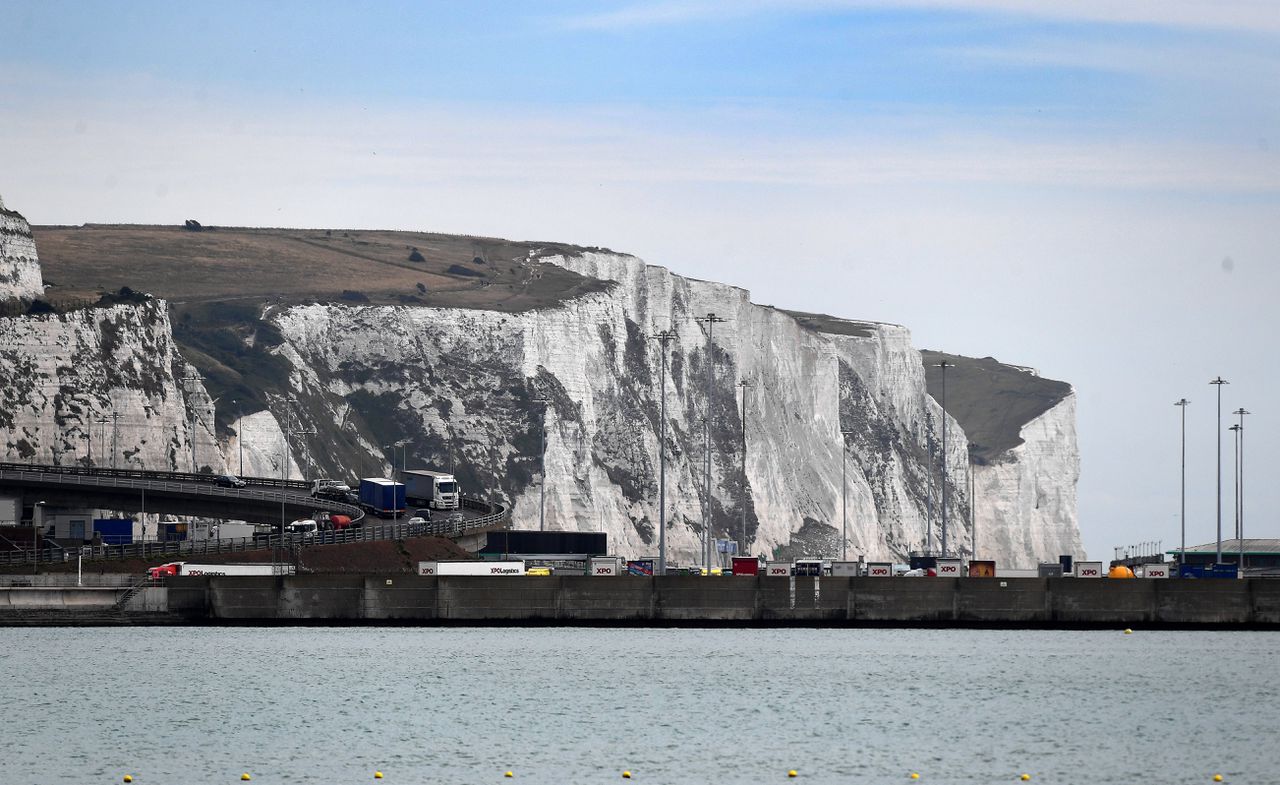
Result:
{"label": "curved elevated viaduct with railings, looping below the trucks at left", "polygon": [[[371,539],[403,539],[404,537],[458,537],[467,531],[500,524],[507,511],[500,505],[463,497],[462,506],[481,515],[476,517],[442,516],[425,524],[407,521],[378,522],[365,516],[360,507],[312,497],[302,482],[244,478],[244,488],[223,488],[205,474],[84,469],[79,466],[28,466],[0,464],[0,489],[14,488],[24,494],[47,493],[59,499],[106,510],[138,510],[197,515],[225,520],[247,520],[279,524],[282,519],[310,517],[316,511],[346,515],[356,524],[342,531],[320,531],[300,539],[285,534],[285,546],[326,546]],[[244,539],[207,539],[177,542],[145,542],[122,546],[99,546],[90,558],[151,558],[152,556],[201,556],[274,548],[280,535]],[[0,551],[0,566],[65,561],[77,556],[78,548],[67,548],[45,540],[38,553],[32,549]]]}

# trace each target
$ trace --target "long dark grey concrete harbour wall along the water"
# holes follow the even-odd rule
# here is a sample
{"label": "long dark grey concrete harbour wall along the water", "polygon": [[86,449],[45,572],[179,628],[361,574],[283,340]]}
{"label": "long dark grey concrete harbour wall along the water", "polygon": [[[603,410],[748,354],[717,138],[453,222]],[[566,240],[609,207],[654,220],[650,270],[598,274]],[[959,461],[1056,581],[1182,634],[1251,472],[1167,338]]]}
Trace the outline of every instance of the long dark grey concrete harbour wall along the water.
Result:
{"label": "long dark grey concrete harbour wall along the water", "polygon": [[1280,581],[201,576],[146,588],[125,610],[134,624],[1280,629]]}

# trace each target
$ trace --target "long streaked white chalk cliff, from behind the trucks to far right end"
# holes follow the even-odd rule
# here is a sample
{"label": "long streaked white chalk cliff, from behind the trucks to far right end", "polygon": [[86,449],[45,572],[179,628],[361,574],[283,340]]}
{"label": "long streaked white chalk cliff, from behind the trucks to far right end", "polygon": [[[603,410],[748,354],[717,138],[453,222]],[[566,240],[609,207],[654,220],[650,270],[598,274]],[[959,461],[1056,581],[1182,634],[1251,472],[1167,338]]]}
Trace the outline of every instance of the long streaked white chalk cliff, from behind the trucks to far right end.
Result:
{"label": "long streaked white chalk cliff, from behind the trucks to far right end", "polygon": [[[666,329],[669,558],[698,560],[708,517],[713,537],[739,540],[745,517],[748,552],[767,556],[838,558],[845,521],[849,558],[938,549],[942,412],[927,393],[906,329],[846,323],[850,334],[814,332],[751,303],[742,289],[623,255],[589,252],[541,264],[617,286],[521,314],[321,305],[278,314],[294,365],[293,392],[312,396],[307,425],[321,438],[326,428],[360,432],[365,465],[381,467],[398,452],[384,446],[407,439],[410,467],[454,467],[465,489],[509,503],[516,528],[536,528],[541,515],[548,529],[603,529],[614,552],[652,556],[662,426],[653,337]],[[696,318],[708,312],[724,321],[713,328],[712,488],[704,512],[708,341]],[[1074,420],[1065,410],[1061,417],[1039,442],[1041,507],[1016,493],[982,517],[979,502],[982,537],[1023,531],[983,539],[983,557],[1007,563],[1079,552],[1074,474],[1048,474],[1048,462],[1075,460]],[[968,553],[968,441],[947,423],[948,547]],[[1024,438],[1027,452],[1037,437],[1029,430]],[[349,474],[365,471],[356,466]],[[1004,475],[996,482],[1004,487]],[[1075,549],[1061,549],[1071,537]]]}

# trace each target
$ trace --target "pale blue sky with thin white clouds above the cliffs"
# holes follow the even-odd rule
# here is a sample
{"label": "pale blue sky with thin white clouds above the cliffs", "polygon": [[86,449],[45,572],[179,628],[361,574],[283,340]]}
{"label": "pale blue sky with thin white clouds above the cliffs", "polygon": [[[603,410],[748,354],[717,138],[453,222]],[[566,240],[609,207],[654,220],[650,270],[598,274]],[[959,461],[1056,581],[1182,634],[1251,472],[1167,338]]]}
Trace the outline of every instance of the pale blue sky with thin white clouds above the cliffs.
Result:
{"label": "pale blue sky with thin white clouds above the cliffs", "polygon": [[[1280,537],[1272,0],[0,0],[37,224],[605,246],[1078,394],[1094,558]],[[1219,430],[1216,388],[1222,376]],[[1257,479],[1254,479],[1257,478]]]}

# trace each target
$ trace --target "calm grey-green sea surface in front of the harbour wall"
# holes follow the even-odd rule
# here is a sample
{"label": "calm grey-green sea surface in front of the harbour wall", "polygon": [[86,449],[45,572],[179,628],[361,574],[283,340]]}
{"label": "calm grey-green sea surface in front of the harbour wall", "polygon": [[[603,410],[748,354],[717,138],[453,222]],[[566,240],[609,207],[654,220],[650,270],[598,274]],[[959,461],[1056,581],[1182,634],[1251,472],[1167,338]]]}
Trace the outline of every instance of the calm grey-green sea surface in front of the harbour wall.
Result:
{"label": "calm grey-green sea surface in front of the harbour wall", "polygon": [[0,629],[0,781],[1280,782],[1280,634]]}

